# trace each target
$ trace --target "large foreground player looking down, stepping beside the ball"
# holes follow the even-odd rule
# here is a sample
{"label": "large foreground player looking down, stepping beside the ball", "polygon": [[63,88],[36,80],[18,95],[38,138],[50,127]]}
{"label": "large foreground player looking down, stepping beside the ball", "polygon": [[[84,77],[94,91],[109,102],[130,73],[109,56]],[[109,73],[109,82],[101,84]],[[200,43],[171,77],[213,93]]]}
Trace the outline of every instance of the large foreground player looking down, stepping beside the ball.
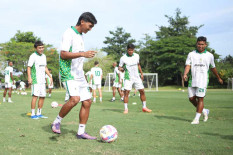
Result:
{"label": "large foreground player looking down, stepping beside the ball", "polygon": [[85,58],[93,58],[96,51],[84,52],[82,35],[90,31],[97,24],[95,16],[90,12],[83,13],[76,24],[67,29],[63,35],[60,52],[61,81],[65,82],[69,101],[65,103],[52,124],[52,131],[60,134],[62,119],[82,102],[79,112],[78,139],[96,139],[85,132],[86,123],[91,107],[91,94],[88,92],[88,83],[84,76],[83,62]]}

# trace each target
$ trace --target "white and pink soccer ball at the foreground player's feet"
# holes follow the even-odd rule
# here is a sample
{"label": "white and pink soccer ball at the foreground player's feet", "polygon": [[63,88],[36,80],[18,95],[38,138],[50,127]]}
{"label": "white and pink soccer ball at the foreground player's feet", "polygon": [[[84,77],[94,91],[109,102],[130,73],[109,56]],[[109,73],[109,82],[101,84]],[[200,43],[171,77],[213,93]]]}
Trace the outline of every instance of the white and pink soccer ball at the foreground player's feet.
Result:
{"label": "white and pink soccer ball at the foreground player's feet", "polygon": [[100,138],[103,142],[111,143],[117,139],[117,136],[117,130],[112,125],[105,125],[100,129]]}

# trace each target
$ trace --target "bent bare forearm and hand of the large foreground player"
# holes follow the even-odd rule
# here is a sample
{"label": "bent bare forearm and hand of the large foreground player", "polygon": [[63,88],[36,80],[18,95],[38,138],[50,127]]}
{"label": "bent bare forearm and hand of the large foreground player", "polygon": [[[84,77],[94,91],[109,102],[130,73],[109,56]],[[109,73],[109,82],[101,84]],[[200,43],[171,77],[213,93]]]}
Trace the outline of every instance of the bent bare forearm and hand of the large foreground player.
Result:
{"label": "bent bare forearm and hand of the large foreground player", "polygon": [[96,51],[86,51],[86,52],[78,52],[78,53],[61,51],[60,56],[62,59],[75,59],[79,57],[93,58],[96,53],[97,53]]}

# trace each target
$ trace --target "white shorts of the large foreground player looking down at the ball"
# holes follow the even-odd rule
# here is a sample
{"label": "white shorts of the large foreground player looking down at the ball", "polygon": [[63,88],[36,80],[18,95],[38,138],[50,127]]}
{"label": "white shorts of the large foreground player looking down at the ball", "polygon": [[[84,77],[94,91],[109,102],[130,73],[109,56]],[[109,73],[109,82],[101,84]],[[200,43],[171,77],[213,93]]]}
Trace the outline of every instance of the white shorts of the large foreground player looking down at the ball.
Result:
{"label": "white shorts of the large foreground player looking down at the ball", "polygon": [[80,101],[85,101],[91,98],[91,93],[86,80],[68,80],[63,84],[65,85],[66,91],[69,94],[69,96],[80,96]]}

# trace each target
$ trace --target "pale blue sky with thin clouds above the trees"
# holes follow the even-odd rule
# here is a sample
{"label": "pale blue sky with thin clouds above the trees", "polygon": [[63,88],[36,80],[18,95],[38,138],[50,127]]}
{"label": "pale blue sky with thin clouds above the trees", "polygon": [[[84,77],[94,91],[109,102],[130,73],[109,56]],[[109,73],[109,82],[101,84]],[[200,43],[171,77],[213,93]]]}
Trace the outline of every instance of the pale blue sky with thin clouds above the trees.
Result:
{"label": "pale blue sky with thin clouds above the trees", "polygon": [[17,30],[32,31],[59,49],[64,31],[88,11],[98,23],[83,35],[85,49],[101,49],[117,27],[137,41],[144,34],[156,37],[158,26],[169,24],[165,15],[175,17],[177,8],[189,18],[189,26],[204,25],[197,36],[206,36],[210,48],[222,58],[233,56],[233,0],[0,0],[0,43]]}

